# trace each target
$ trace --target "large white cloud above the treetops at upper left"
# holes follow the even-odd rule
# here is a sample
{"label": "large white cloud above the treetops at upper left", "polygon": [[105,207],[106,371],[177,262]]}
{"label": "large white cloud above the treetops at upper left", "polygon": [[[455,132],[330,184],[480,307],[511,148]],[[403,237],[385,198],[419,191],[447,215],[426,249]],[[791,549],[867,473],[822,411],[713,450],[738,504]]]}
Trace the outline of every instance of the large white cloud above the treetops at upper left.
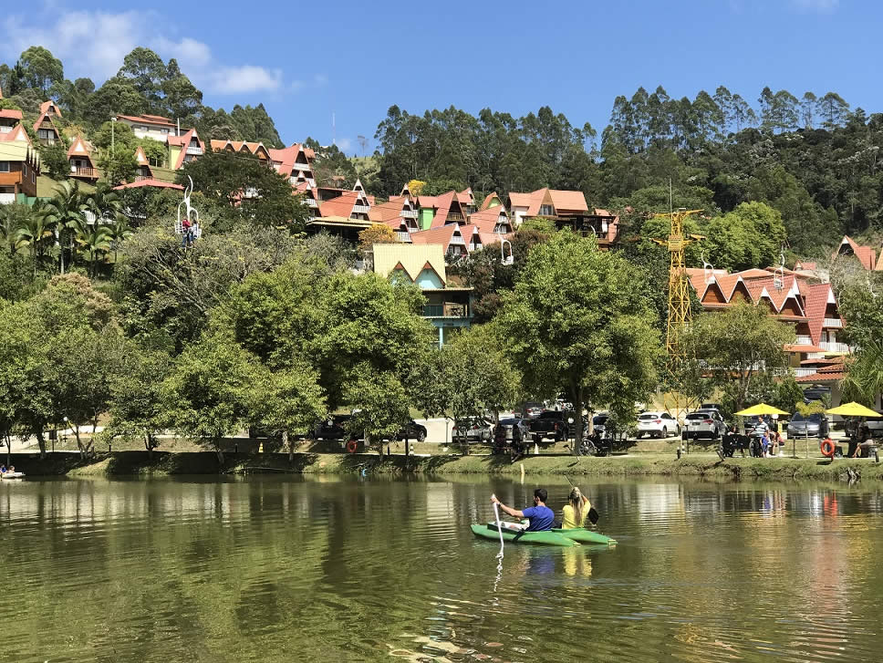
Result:
{"label": "large white cloud above the treetops at upper left", "polygon": [[159,25],[168,21],[152,11],[34,11],[0,23],[0,56],[14,59],[27,47],[44,46],[65,63],[68,78],[88,76],[100,83],[117,73],[133,48],[144,46],[164,59],[176,58],[197,87],[215,94],[272,91],[283,84],[281,69],[220,64],[198,39],[157,37]]}

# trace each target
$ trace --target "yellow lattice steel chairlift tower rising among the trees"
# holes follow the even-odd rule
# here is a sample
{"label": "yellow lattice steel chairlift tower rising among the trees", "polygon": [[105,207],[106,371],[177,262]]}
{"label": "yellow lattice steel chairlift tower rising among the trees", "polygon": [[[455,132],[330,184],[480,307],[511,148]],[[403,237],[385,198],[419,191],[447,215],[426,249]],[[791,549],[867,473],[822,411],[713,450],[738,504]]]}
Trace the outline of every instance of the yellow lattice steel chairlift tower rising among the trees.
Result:
{"label": "yellow lattice steel chairlift tower rising among the trees", "polygon": [[680,419],[687,408],[686,399],[680,393],[677,384],[680,371],[687,358],[687,349],[681,337],[690,323],[690,278],[687,276],[687,265],[684,262],[684,249],[691,243],[705,239],[703,235],[684,235],[684,219],[702,210],[687,210],[681,207],[677,212],[663,212],[655,216],[670,219],[671,229],[667,240],[654,239],[653,242],[669,249],[669,315],[665,329],[665,349],[668,354],[668,369],[672,385],[672,397],[665,403],[666,409],[674,410],[672,414]]}

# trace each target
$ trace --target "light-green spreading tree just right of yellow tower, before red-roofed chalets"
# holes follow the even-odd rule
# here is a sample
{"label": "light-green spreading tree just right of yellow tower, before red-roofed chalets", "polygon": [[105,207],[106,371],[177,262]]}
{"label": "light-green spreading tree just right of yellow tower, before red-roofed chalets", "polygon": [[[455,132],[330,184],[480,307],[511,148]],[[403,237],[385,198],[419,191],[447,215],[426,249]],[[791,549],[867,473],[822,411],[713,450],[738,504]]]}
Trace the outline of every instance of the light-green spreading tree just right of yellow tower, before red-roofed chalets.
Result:
{"label": "light-green spreading tree just right of yellow tower, before red-roofed chalets", "polygon": [[770,316],[766,306],[738,304],[697,316],[684,344],[717,386],[732,389],[738,410],[758,376],[787,367],[784,345],[794,340],[794,329]]}

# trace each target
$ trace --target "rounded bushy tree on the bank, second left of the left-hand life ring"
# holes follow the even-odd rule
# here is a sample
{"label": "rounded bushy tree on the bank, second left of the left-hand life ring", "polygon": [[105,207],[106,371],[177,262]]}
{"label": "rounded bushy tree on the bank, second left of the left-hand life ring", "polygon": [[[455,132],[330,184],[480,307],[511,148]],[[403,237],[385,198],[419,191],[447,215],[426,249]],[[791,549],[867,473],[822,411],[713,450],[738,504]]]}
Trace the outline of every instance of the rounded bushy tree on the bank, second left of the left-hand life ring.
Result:
{"label": "rounded bushy tree on the bank, second left of the left-hand life ring", "polygon": [[214,334],[184,349],[162,381],[169,428],[205,440],[223,465],[223,438],[252,423],[262,395],[255,357],[233,338]]}

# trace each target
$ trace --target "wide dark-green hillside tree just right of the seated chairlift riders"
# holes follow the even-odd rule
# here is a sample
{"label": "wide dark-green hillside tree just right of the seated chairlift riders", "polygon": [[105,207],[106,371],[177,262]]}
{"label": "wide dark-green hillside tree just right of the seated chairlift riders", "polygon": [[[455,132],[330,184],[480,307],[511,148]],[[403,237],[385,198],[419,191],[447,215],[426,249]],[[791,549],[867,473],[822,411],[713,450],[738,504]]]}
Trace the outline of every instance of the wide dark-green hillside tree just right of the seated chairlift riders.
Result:
{"label": "wide dark-green hillside tree just right of the seated chairlift riders", "polygon": [[195,191],[227,208],[231,218],[251,226],[301,232],[309,208],[292,195],[291,183],[253,155],[209,151],[188,161],[177,181],[192,178]]}

